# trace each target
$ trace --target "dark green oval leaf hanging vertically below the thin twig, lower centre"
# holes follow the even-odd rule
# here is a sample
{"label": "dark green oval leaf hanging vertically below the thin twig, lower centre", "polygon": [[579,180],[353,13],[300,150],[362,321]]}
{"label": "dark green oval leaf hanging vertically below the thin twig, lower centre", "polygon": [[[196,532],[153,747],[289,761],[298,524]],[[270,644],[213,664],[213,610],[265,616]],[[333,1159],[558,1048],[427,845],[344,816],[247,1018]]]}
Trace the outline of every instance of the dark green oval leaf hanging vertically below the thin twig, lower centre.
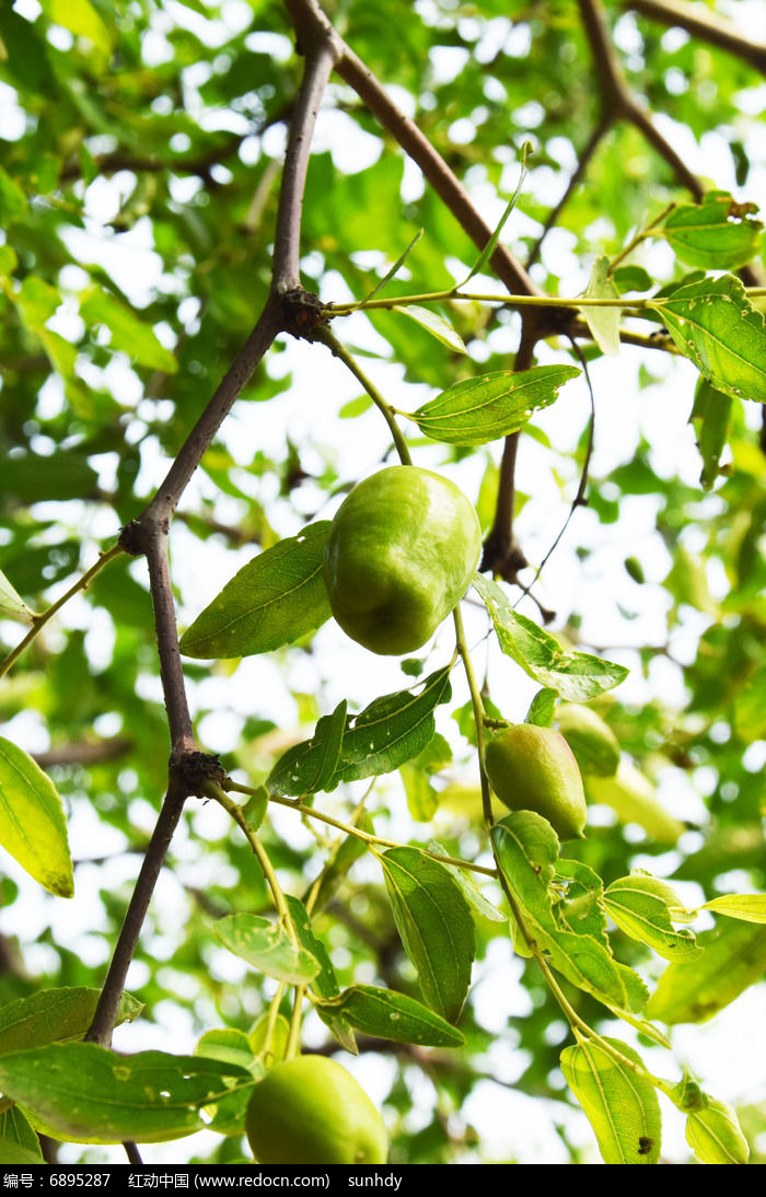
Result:
{"label": "dark green oval leaf hanging vertically below the thin twig, lower centre", "polygon": [[456,1022],[475,953],[468,903],[448,869],[418,849],[393,847],[379,861],[394,922],[418,970],[422,996],[437,1014]]}

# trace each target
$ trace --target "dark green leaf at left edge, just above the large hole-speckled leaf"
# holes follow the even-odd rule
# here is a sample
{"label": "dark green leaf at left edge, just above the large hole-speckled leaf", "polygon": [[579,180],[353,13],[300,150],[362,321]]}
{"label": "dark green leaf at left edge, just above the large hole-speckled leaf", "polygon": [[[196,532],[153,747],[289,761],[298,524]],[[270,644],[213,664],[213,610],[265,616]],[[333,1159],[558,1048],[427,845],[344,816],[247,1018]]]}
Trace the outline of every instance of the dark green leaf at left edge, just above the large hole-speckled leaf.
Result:
{"label": "dark green leaf at left edge, just above the large hole-speckled leaf", "polygon": [[[101,990],[85,986],[44,989],[0,1007],[0,1056],[81,1039],[93,1021],[99,997]],[[142,1009],[142,1002],[123,994],[117,1023],[133,1022]]]}

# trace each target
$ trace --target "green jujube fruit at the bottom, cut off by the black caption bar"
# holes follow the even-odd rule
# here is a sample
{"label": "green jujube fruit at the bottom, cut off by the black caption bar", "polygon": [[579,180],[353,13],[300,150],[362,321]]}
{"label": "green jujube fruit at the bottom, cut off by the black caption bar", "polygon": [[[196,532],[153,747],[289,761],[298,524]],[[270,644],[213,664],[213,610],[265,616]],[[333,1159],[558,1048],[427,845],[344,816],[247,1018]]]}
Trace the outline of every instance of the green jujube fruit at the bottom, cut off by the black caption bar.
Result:
{"label": "green jujube fruit at the bottom, cut off by the black caption bar", "polygon": [[259,1163],[376,1165],[388,1159],[378,1110],[351,1073],[324,1056],[275,1064],[253,1089],[245,1126]]}

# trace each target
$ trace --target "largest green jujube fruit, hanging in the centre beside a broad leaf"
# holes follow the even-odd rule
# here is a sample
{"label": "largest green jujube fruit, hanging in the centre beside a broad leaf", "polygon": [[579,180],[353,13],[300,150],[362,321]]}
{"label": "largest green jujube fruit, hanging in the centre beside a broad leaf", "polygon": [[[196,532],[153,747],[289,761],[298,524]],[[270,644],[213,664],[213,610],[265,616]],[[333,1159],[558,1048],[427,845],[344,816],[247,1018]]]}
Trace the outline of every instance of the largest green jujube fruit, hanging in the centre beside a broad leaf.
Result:
{"label": "largest green jujube fruit, hanging in the centre beside a broad leaf", "polygon": [[481,528],[449,479],[389,466],[338,510],[324,548],[333,615],[371,652],[414,652],[466,594]]}

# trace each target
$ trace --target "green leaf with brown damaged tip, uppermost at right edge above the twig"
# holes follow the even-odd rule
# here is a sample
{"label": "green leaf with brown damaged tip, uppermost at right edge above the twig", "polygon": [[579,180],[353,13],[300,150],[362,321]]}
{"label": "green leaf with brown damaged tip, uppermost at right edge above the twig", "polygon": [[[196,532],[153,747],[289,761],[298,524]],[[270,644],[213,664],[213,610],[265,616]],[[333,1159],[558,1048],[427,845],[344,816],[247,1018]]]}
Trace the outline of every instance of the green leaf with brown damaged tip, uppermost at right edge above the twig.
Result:
{"label": "green leaf with brown damaged tip, uppermost at right edge above the twig", "polygon": [[758,254],[761,231],[755,203],[737,203],[728,192],[709,192],[701,203],[680,203],[662,226],[682,262],[704,271],[736,271]]}

